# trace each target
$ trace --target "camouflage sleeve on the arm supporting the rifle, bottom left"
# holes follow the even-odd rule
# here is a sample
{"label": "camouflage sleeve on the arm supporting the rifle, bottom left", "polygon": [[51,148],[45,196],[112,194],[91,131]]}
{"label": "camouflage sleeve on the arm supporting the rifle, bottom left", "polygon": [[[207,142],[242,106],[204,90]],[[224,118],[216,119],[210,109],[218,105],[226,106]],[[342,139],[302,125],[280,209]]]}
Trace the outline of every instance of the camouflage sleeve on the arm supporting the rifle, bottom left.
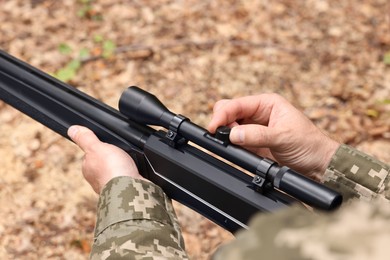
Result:
{"label": "camouflage sleeve on the arm supporting the rifle, bottom left", "polygon": [[117,177],[98,203],[91,259],[187,259],[171,201],[155,184]]}

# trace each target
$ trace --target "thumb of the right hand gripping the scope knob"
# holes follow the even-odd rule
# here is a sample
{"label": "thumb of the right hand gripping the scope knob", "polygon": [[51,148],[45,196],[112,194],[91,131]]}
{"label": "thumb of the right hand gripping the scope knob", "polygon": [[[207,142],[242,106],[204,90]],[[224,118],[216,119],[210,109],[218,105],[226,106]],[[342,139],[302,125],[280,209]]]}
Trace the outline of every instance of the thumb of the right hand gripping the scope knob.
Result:
{"label": "thumb of the right hand gripping the scope knob", "polygon": [[272,147],[276,141],[272,131],[262,125],[239,125],[232,128],[230,141],[247,147]]}

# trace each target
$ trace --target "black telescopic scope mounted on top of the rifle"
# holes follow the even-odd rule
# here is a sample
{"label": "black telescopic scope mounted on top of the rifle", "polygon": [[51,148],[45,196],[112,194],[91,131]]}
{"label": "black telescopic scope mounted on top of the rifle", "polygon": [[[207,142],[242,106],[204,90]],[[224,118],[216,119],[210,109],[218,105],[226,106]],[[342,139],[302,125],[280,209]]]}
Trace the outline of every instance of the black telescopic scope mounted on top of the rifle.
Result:
{"label": "black telescopic scope mounted on top of the rifle", "polygon": [[279,166],[276,162],[216,138],[188,118],[172,113],[154,95],[138,87],[129,87],[122,93],[119,110],[130,120],[162,126],[168,129],[167,137],[183,137],[256,174],[253,183],[260,183],[258,187],[261,191],[264,183],[270,183],[272,187],[318,209],[333,210],[341,205],[342,196],[339,193],[286,166]]}

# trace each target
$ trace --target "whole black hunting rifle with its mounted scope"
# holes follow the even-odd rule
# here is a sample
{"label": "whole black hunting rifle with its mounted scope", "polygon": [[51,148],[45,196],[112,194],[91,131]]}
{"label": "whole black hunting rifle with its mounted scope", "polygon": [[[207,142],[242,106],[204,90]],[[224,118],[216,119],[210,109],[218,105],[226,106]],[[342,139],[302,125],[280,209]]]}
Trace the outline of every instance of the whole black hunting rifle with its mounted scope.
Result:
{"label": "whole black hunting rifle with its mounted scope", "polygon": [[0,50],[0,99],[65,138],[71,125],[90,128],[130,154],[169,197],[230,232],[248,228],[256,212],[299,201],[333,210],[342,202],[322,184],[230,144],[228,129],[213,135],[137,87],[123,92],[118,111]]}

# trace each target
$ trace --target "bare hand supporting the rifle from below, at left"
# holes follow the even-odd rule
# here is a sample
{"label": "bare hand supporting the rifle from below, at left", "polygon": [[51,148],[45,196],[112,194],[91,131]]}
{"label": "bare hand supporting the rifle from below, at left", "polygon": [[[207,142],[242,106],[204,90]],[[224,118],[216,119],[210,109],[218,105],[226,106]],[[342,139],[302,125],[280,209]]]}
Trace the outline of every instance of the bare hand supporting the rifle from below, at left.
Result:
{"label": "bare hand supporting the rifle from below, at left", "polygon": [[71,126],[69,137],[85,152],[82,171],[93,190],[100,191],[112,178],[130,176],[141,179],[133,159],[120,148],[101,142],[88,128]]}

